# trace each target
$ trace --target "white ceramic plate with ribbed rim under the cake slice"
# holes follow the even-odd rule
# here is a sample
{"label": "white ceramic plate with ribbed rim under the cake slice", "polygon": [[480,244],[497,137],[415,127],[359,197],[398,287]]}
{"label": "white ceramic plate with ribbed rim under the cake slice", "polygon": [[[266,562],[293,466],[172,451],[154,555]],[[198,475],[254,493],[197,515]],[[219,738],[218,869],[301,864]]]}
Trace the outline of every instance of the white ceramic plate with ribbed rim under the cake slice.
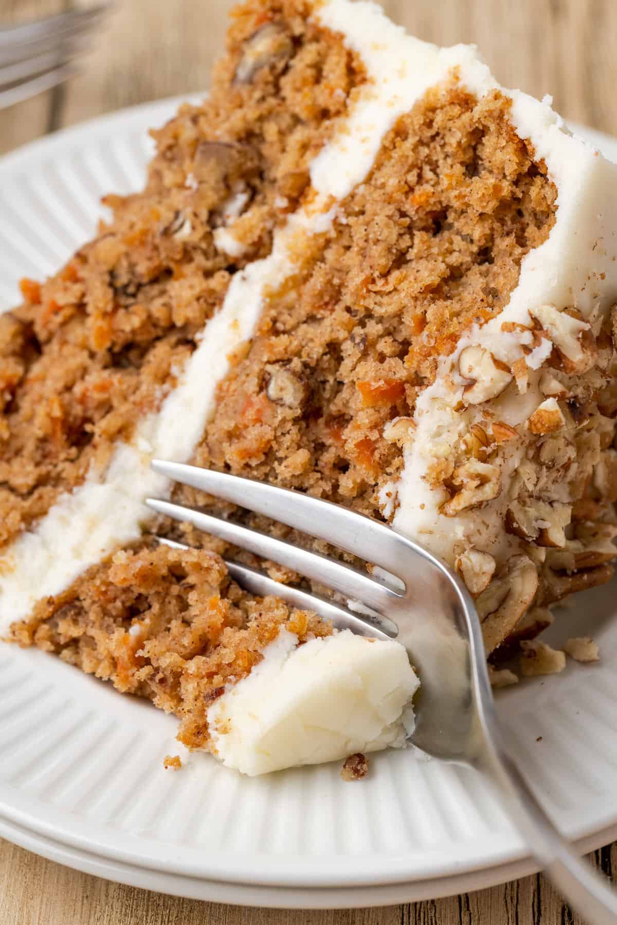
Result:
{"label": "white ceramic plate with ribbed rim under the cake slice", "polygon": [[[142,183],[167,101],[96,119],[0,162],[0,307],[86,240],[107,191]],[[617,159],[617,141],[594,134]],[[591,633],[599,665],[521,684],[500,712],[549,809],[585,846],[617,837],[615,586],[553,630]],[[165,771],[176,722],[38,651],[0,648],[0,834],[81,870],[176,894],[281,907],[457,893],[533,869],[487,783],[411,754],[242,778],[196,756]],[[540,738],[541,737],[541,738]],[[538,741],[539,740],[539,741]]]}

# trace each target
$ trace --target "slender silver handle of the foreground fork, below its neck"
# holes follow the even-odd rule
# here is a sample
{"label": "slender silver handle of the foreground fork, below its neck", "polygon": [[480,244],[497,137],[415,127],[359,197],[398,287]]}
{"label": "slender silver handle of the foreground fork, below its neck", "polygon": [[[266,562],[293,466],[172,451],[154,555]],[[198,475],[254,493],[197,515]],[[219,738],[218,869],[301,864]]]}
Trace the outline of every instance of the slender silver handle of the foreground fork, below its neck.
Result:
{"label": "slender silver handle of the foreground fork, below its neck", "polygon": [[616,925],[617,892],[561,836],[537,801],[505,743],[490,756],[490,777],[507,800],[512,822],[537,861],[571,906],[589,925]]}

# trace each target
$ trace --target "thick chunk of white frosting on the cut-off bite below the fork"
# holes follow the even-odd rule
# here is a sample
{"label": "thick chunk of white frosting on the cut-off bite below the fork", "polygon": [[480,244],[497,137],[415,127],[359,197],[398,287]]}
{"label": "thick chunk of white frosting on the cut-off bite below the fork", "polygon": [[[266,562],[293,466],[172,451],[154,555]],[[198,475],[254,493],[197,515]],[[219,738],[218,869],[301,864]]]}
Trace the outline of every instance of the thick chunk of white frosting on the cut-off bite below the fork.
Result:
{"label": "thick chunk of white frosting on the cut-off bite below the fork", "polygon": [[349,630],[298,646],[281,630],[264,660],[208,710],[217,757],[243,774],[405,745],[418,679],[397,642]]}

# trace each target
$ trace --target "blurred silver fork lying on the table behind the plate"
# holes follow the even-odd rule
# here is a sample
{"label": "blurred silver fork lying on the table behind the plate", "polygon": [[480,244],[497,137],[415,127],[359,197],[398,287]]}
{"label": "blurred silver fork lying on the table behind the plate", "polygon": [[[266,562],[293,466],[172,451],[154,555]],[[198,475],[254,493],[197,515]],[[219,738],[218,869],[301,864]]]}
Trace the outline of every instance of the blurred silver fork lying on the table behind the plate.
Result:
{"label": "blurred silver fork lying on the table behind the plate", "polygon": [[73,77],[109,4],[0,29],[0,108]]}

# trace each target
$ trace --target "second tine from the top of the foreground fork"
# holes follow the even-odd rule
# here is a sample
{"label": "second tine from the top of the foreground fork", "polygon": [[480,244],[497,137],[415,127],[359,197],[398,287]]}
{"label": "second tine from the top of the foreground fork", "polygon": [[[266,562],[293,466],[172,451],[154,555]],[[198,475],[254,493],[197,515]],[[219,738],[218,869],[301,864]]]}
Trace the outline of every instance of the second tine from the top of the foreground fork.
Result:
{"label": "second tine from the top of the foreground fork", "polygon": [[273,536],[249,530],[240,524],[233,524],[231,521],[213,517],[211,514],[194,511],[192,508],[184,508],[171,501],[148,498],[145,503],[157,513],[165,514],[174,520],[194,524],[205,533],[218,536],[241,549],[248,549],[249,552],[253,552],[262,559],[278,562],[307,578],[313,578],[322,585],[339,591],[347,598],[361,600],[363,604],[378,613],[395,607],[401,601],[395,591],[385,585],[380,585],[367,574],[357,572],[348,565],[327,559],[316,552],[291,546],[290,543],[275,539]]}

